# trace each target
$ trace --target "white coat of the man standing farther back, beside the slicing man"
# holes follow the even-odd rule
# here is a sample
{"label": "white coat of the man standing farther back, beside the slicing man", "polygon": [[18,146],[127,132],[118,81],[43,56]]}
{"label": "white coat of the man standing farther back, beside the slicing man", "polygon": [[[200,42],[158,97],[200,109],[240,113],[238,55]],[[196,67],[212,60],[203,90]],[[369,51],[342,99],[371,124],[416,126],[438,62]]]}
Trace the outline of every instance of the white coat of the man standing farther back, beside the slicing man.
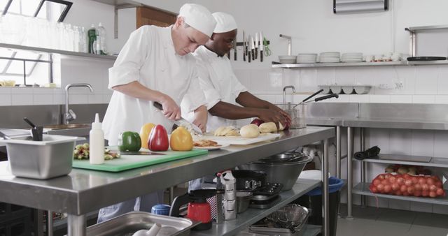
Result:
{"label": "white coat of the man standing farther back, beside the slicing man", "polygon": [[[197,74],[200,79],[200,87],[204,91],[207,99],[207,110],[213,108],[216,103],[223,101],[233,105],[238,105],[235,99],[241,92],[247,91],[239,82],[228,57],[218,57],[218,54],[200,46],[193,53],[197,59]],[[193,100],[193,98],[191,98]],[[190,96],[184,99],[181,108],[188,111]],[[190,112],[187,119],[193,119],[193,112]],[[235,126],[236,121],[210,115],[207,121],[207,131],[215,131],[220,126]]]}

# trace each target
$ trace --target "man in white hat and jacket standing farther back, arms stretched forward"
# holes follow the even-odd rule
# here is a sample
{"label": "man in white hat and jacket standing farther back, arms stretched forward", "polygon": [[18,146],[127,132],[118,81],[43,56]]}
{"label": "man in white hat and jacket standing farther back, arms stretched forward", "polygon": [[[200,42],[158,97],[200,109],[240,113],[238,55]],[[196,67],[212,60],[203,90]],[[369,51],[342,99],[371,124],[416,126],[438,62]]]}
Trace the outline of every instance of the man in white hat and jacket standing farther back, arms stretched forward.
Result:
{"label": "man in white hat and jacket standing farther back, arms stretched forward", "polygon": [[[197,59],[197,71],[200,87],[207,99],[209,118],[207,131],[215,131],[220,126],[235,124],[236,119],[258,117],[263,121],[277,124],[290,124],[290,116],[276,105],[264,101],[249,93],[239,82],[228,57],[224,57],[232,48],[237,36],[237,22],[227,13],[213,13],[216,20],[214,34],[208,42],[197,48],[193,54]],[[190,96],[186,98],[186,101]],[[239,104],[239,105],[237,105]],[[181,105],[188,112],[188,103]],[[188,119],[193,120],[193,112]],[[209,188],[214,176],[206,176],[190,182],[189,189]]]}

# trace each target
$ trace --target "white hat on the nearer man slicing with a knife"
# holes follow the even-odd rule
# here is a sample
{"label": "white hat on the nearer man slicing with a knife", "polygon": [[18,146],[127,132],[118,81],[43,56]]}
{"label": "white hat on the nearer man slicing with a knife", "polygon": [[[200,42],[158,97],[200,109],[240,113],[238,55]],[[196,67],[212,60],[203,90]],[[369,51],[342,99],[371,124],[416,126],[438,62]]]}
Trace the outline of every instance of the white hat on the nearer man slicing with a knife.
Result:
{"label": "white hat on the nearer man slicing with a knife", "polygon": [[213,34],[216,21],[210,11],[204,6],[194,3],[183,4],[181,10],[179,10],[179,16],[183,17],[190,27],[201,31],[203,34],[209,37]]}

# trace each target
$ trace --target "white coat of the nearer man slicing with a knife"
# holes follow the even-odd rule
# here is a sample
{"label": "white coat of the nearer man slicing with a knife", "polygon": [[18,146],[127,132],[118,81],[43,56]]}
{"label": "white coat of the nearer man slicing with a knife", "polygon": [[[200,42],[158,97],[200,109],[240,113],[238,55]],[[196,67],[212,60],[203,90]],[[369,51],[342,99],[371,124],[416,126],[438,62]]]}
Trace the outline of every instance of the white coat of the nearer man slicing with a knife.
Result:
{"label": "white coat of the nearer man slicing with a knife", "polygon": [[[195,58],[192,54],[176,54],[171,30],[172,27],[144,26],[132,32],[115,64],[109,68],[109,89],[138,81],[167,94],[179,105],[183,96],[188,94],[188,112],[205,105]],[[104,137],[109,140],[109,145],[117,145],[121,132],[138,132],[148,122],[162,124],[168,132],[172,130],[172,121],[152,102],[113,91],[103,121]]]}

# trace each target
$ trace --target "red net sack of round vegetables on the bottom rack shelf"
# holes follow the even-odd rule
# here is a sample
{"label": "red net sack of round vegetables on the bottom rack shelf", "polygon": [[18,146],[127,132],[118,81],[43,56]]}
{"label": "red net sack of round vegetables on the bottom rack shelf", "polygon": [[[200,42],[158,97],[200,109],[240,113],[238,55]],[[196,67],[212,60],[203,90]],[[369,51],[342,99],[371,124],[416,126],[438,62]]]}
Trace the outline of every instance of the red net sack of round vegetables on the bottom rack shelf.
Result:
{"label": "red net sack of round vegetables on the bottom rack shelf", "polygon": [[442,180],[437,176],[380,174],[373,179],[369,189],[372,193],[397,196],[424,198],[446,196]]}

